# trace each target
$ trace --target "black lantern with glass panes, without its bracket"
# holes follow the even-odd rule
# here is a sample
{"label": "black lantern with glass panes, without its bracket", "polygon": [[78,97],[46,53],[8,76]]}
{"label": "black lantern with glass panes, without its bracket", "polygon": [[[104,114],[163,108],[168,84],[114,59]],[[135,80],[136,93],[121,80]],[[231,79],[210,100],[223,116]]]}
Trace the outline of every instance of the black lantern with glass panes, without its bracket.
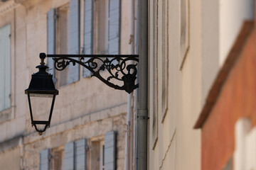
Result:
{"label": "black lantern with glass panes, without its bracket", "polygon": [[[32,127],[35,126],[36,131],[39,135],[43,135],[43,132],[46,131],[46,128],[50,127],[50,119],[53,113],[53,106],[55,101],[55,96],[58,95],[58,90],[55,89],[53,84],[53,75],[48,74],[46,69],[48,67],[45,65],[43,60],[46,58],[44,55],[40,55],[41,63],[36,68],[39,69],[39,72],[32,74],[31,82],[28,86],[28,89],[25,90],[25,94],[28,95],[28,104],[31,115],[31,124]],[[50,99],[50,113],[48,120],[34,120],[33,119],[33,110],[31,105],[31,98],[38,98],[38,100]],[[47,99],[46,99],[47,100]],[[46,102],[44,103],[46,104]],[[43,106],[43,108],[46,106]],[[39,129],[37,125],[44,125],[42,129]]]}

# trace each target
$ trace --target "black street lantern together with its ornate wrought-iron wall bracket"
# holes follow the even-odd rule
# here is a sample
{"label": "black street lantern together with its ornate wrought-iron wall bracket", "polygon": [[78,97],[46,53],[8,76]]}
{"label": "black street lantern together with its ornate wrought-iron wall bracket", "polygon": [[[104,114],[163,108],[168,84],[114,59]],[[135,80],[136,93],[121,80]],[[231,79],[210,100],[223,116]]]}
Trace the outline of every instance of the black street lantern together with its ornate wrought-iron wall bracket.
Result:
{"label": "black street lantern together with its ornate wrought-iron wall bracket", "polygon": [[[48,67],[43,62],[46,57],[53,58],[55,69],[58,71],[65,69],[70,63],[73,65],[80,64],[82,67],[90,70],[92,73],[91,77],[97,77],[107,86],[127,91],[128,94],[139,87],[139,84],[136,82],[137,63],[139,62],[138,55],[46,55],[45,53],[40,53],[41,65],[36,67],[39,69],[39,72],[32,74],[31,83],[28,89],[25,90],[25,94],[28,94],[31,123],[32,126],[35,126],[39,135],[42,135],[46,128],[50,127],[55,96],[58,95],[58,90],[55,89],[53,84],[53,75],[46,72]],[[76,58],[79,60],[75,60]],[[109,74],[107,77],[103,75],[106,72]],[[38,100],[52,98],[48,120],[33,120],[31,97],[36,97]],[[45,104],[47,102],[41,103]],[[35,103],[35,105],[38,105],[38,103]],[[37,125],[45,126],[39,129]]]}

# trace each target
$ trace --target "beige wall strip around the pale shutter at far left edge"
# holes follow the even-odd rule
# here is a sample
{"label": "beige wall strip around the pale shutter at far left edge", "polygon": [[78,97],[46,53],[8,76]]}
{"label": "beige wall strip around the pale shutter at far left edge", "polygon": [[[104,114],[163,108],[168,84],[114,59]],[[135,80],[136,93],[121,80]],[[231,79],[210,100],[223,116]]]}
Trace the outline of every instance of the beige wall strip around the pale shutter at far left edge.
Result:
{"label": "beige wall strip around the pale shutter at far left edge", "polygon": [[[26,11],[14,1],[0,6],[0,27],[11,24],[11,108],[0,112],[0,141],[11,139],[25,131],[26,96]],[[17,109],[18,108],[18,109]]]}

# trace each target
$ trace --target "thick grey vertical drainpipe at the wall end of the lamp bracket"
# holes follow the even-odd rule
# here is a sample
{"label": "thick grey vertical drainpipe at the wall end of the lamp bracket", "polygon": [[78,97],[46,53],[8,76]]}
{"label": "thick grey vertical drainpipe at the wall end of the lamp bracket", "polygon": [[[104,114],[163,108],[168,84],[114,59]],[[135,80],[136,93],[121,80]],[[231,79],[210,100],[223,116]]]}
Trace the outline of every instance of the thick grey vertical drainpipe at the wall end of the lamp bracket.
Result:
{"label": "thick grey vertical drainpipe at the wall end of the lamp bracket", "polygon": [[147,169],[148,126],[148,0],[139,1],[139,103],[138,162],[139,170]]}

